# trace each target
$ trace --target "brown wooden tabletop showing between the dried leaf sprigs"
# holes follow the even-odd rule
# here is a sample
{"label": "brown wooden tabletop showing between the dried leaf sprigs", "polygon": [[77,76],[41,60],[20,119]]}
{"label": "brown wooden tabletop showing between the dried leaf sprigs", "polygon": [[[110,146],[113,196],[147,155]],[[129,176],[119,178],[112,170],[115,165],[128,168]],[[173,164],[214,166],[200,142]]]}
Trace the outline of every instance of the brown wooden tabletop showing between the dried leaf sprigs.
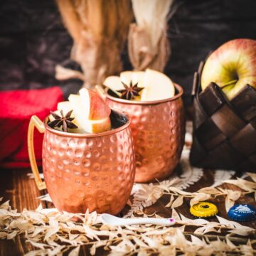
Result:
{"label": "brown wooden tabletop showing between the dried leaf sprigs", "polygon": [[[20,169],[20,170],[11,170],[11,169],[1,169],[0,170],[0,197],[4,197],[4,201],[10,200],[12,208],[16,208],[18,211],[21,211],[23,208],[28,210],[33,210],[38,207],[40,203],[43,204],[43,207],[50,208],[53,207],[51,203],[46,203],[39,201],[38,196],[41,196],[42,193],[36,188],[36,183],[33,179],[28,178],[27,174],[30,172],[30,169]],[[213,171],[204,171],[203,177],[195,184],[190,186],[187,191],[197,191],[199,188],[210,186],[213,181]],[[234,188],[233,185],[223,184],[223,188]],[[235,187],[237,189],[237,187]],[[163,216],[171,216],[171,209],[166,208],[165,205],[169,202],[168,196],[163,196],[157,203],[153,206],[146,209],[147,213],[154,213],[155,211]],[[223,218],[228,218],[225,211],[225,198],[218,197],[215,199],[214,203],[218,206],[219,213],[218,215]],[[246,195],[241,197],[238,200],[238,203],[250,203],[254,206],[255,200],[252,195]],[[189,213],[189,202],[185,201],[183,206],[176,208],[179,213],[182,213],[187,218],[192,218]],[[124,212],[127,209],[124,209]],[[213,218],[213,220],[215,220]],[[248,225],[252,228],[256,228],[256,222],[253,223],[243,223],[243,225]],[[243,237],[245,238],[245,237]],[[252,239],[256,239],[254,235]],[[246,238],[245,238],[246,240]],[[0,256],[11,256],[11,255],[23,255],[24,253],[32,250],[33,247],[26,243],[25,239],[21,236],[18,236],[14,240],[0,240]],[[106,255],[107,252],[100,251],[97,255]],[[89,255],[87,248],[82,248],[80,250],[80,255]]]}

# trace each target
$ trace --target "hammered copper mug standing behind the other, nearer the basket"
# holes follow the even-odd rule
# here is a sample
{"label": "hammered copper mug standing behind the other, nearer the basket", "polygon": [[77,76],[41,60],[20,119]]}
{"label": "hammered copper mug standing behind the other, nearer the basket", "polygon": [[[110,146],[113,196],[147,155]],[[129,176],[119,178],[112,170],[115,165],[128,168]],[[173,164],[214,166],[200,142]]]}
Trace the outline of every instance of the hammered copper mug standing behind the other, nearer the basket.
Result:
{"label": "hammered copper mug standing behind the other, nearer the basket", "polygon": [[150,102],[122,100],[110,95],[107,88],[102,95],[110,107],[123,110],[132,118],[135,182],[164,179],[174,171],[180,160],[185,137],[185,114],[181,99],[183,89],[179,85],[175,87],[174,97]]}

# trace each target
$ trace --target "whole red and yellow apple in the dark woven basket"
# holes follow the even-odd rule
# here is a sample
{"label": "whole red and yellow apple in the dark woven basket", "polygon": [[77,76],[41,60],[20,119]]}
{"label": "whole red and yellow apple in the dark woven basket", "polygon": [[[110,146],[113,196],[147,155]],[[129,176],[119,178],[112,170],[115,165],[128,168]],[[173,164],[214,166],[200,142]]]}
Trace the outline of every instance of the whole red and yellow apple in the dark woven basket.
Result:
{"label": "whole red and yellow apple in the dark woven basket", "polygon": [[256,41],[235,39],[215,50],[203,67],[202,90],[215,82],[232,99],[249,84],[256,87]]}

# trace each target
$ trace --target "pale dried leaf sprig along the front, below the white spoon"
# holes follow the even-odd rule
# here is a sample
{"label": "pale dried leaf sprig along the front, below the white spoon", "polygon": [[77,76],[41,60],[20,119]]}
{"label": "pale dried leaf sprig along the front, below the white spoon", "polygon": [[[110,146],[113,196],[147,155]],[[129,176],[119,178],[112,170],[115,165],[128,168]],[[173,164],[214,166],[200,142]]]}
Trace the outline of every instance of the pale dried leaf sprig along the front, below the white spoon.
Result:
{"label": "pale dried leaf sprig along the front, below the white spoon", "polygon": [[[16,235],[24,235],[26,242],[35,247],[35,250],[26,253],[29,256],[61,255],[64,252],[78,255],[82,246],[90,247],[91,255],[95,255],[100,247],[109,250],[109,255],[136,255],[138,252],[144,255],[252,252],[253,255],[255,252],[253,245],[256,240],[230,237],[232,234],[250,235],[255,232],[252,228],[220,217],[215,223],[203,219],[191,220],[178,215],[176,210],[173,210],[174,216],[181,224],[180,227],[136,225],[121,228],[102,225],[95,212],[59,213],[56,209],[43,209],[39,206],[36,210],[24,209],[18,213],[7,201],[0,205],[0,238],[10,240]],[[73,222],[73,217],[80,218],[81,223]],[[185,230],[186,225],[198,228],[191,233]],[[222,229],[228,230],[230,235],[221,235]],[[218,235],[206,235],[208,232]],[[239,242],[240,245],[233,242]]]}

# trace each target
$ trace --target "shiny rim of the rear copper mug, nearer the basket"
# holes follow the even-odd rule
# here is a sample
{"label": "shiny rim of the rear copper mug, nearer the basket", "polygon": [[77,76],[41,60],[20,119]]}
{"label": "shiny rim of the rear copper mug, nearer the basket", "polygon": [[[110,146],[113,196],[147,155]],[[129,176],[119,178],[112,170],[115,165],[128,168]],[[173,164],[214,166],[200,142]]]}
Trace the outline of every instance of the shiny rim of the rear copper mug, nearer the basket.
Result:
{"label": "shiny rim of the rear copper mug, nearer the basket", "polygon": [[125,103],[125,104],[132,104],[132,105],[156,105],[159,103],[164,103],[164,102],[169,102],[172,100],[176,100],[179,97],[181,97],[183,95],[183,88],[181,87],[181,85],[178,85],[174,82],[174,87],[176,90],[178,90],[178,93],[176,95],[174,95],[174,97],[170,97],[164,100],[151,100],[151,101],[132,101],[132,100],[124,100],[124,99],[120,99],[117,97],[113,97],[111,95],[108,94],[108,90],[109,88],[106,87],[105,88],[105,97],[107,97],[109,100],[113,100],[115,102],[120,102],[120,103]]}

